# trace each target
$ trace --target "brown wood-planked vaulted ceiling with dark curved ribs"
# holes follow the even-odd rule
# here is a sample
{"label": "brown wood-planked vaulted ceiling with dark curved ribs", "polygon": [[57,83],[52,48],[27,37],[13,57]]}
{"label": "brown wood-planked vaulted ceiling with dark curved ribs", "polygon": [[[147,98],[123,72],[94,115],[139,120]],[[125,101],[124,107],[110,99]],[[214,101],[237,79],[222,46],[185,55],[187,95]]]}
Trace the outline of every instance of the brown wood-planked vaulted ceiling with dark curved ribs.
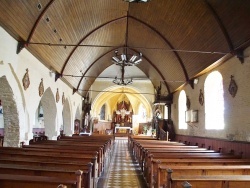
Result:
{"label": "brown wood-planked vaulted ceiling with dark curved ribs", "polygon": [[137,67],[167,93],[192,85],[215,62],[234,55],[243,62],[249,20],[246,0],[0,2],[0,25],[19,41],[13,50],[27,48],[83,96],[116,49],[141,52]]}

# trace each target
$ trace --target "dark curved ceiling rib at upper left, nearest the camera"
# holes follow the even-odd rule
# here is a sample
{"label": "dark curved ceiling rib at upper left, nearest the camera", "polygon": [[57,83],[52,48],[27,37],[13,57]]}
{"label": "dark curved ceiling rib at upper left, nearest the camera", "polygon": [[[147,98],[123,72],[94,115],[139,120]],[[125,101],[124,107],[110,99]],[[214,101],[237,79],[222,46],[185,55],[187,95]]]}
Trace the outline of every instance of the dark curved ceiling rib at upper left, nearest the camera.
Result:
{"label": "dark curved ceiling rib at upper left, nearest the camera", "polygon": [[16,51],[17,54],[20,53],[20,51],[25,47],[25,45],[26,45],[26,46],[29,45],[29,43],[30,43],[30,41],[31,41],[31,38],[32,38],[32,36],[33,36],[33,34],[34,34],[34,32],[35,32],[35,30],[36,30],[36,28],[37,28],[37,26],[38,26],[40,20],[42,19],[42,17],[43,17],[43,15],[45,14],[45,12],[46,12],[46,11],[49,9],[49,7],[52,5],[52,3],[54,3],[54,1],[55,1],[55,0],[51,0],[51,1],[46,5],[46,7],[43,9],[43,11],[41,12],[41,14],[38,16],[38,18],[36,19],[35,24],[33,25],[32,29],[31,29],[31,31],[30,31],[30,34],[29,34],[29,36],[28,36],[27,41],[26,41],[26,42],[23,42],[23,41],[22,41],[22,42],[18,42],[18,44],[17,44],[17,51]]}

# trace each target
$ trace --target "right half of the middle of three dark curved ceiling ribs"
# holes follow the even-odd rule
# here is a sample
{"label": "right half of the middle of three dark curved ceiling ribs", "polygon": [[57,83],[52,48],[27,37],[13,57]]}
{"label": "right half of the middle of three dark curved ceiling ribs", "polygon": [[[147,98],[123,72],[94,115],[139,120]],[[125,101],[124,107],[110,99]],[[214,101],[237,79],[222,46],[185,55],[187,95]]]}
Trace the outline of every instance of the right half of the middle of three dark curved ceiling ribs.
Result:
{"label": "right half of the middle of three dark curved ceiling ribs", "polygon": [[145,22],[143,22],[143,21],[141,21],[138,18],[135,18],[133,16],[129,16],[129,17],[132,18],[132,19],[134,19],[134,20],[136,20],[136,21],[138,21],[138,22],[140,22],[140,23],[142,23],[143,25],[146,25],[148,28],[152,29],[155,33],[157,33],[164,40],[164,42],[173,50],[173,53],[174,53],[175,57],[177,58],[179,64],[181,65],[181,68],[182,68],[183,73],[185,75],[186,81],[188,81],[189,77],[188,77],[188,74],[187,74],[187,70],[186,70],[186,68],[184,66],[184,63],[183,63],[181,57],[179,56],[179,54],[176,51],[174,51],[175,48],[173,47],[173,45],[159,31],[157,31],[151,25],[149,25],[149,24],[147,24],[147,23],[145,23]]}

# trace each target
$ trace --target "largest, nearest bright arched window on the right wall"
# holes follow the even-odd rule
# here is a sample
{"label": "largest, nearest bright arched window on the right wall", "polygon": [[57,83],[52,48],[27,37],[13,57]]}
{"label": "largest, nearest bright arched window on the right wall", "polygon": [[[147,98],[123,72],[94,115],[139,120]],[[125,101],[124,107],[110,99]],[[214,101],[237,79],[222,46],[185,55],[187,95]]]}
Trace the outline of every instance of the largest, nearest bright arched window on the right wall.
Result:
{"label": "largest, nearest bright arched window on the right wall", "polygon": [[222,81],[222,76],[218,71],[210,73],[205,80],[206,129],[224,129],[224,91]]}

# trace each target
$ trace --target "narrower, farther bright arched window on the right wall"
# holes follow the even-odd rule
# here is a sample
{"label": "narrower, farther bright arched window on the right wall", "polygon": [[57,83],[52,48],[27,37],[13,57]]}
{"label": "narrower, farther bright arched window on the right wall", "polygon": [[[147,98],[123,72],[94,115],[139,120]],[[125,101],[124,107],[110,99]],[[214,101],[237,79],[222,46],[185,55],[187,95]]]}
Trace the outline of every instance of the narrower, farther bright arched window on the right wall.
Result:
{"label": "narrower, farther bright arched window on the right wall", "polygon": [[180,92],[178,107],[179,107],[179,129],[187,129],[187,123],[185,122],[185,112],[187,110],[186,106],[186,93],[184,90]]}

